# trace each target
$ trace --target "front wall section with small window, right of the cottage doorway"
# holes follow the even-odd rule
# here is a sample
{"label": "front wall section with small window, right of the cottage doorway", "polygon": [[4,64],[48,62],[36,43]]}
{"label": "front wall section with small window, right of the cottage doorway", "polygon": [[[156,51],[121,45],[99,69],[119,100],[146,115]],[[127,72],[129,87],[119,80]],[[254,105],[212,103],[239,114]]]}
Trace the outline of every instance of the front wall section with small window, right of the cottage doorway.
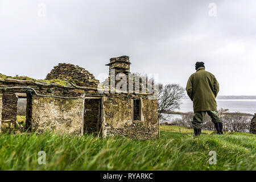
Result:
{"label": "front wall section with small window, right of the cottage doorway", "polygon": [[[148,100],[147,97],[141,94],[109,94],[105,97],[103,137],[156,138],[158,105],[157,101]],[[133,119],[134,100],[142,102],[140,120]]]}

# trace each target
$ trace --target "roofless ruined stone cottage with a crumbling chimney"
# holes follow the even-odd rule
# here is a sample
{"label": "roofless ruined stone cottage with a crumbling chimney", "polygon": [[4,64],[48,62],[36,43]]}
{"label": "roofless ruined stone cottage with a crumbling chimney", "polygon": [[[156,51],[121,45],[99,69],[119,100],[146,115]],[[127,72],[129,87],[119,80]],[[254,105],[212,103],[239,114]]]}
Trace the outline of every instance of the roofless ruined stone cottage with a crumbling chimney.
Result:
{"label": "roofless ruined stone cottage with a crumbling chimney", "polygon": [[[132,90],[118,92],[121,77],[129,77],[130,64],[128,56],[110,59],[104,89],[92,73],[65,63],[54,67],[43,81],[0,78],[0,129],[1,121],[16,121],[18,99],[26,98],[26,130],[30,132],[156,138],[158,104],[152,93],[135,90],[135,82],[128,80],[120,88]],[[110,72],[118,79],[112,81]]]}

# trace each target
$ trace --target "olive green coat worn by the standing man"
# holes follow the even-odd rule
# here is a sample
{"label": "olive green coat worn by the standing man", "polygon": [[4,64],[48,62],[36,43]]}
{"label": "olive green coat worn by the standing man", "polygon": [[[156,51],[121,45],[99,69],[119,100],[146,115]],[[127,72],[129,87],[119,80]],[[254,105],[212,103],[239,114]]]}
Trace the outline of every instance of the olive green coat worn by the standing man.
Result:
{"label": "olive green coat worn by the standing man", "polygon": [[197,69],[188,79],[187,94],[193,101],[194,112],[217,110],[217,97],[220,87],[216,77],[204,70]]}

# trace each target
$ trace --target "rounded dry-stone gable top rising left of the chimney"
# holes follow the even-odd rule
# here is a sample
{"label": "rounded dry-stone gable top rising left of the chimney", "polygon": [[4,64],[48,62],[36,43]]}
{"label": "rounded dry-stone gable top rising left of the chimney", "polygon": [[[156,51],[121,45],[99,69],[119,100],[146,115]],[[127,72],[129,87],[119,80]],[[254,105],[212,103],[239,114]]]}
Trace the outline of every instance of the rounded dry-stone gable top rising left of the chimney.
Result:
{"label": "rounded dry-stone gable top rising left of the chimney", "polygon": [[79,86],[88,86],[97,88],[99,81],[94,78],[92,73],[89,73],[84,68],[77,65],[60,63],[52,69],[46,76],[47,80],[74,80],[79,81],[76,84]]}

